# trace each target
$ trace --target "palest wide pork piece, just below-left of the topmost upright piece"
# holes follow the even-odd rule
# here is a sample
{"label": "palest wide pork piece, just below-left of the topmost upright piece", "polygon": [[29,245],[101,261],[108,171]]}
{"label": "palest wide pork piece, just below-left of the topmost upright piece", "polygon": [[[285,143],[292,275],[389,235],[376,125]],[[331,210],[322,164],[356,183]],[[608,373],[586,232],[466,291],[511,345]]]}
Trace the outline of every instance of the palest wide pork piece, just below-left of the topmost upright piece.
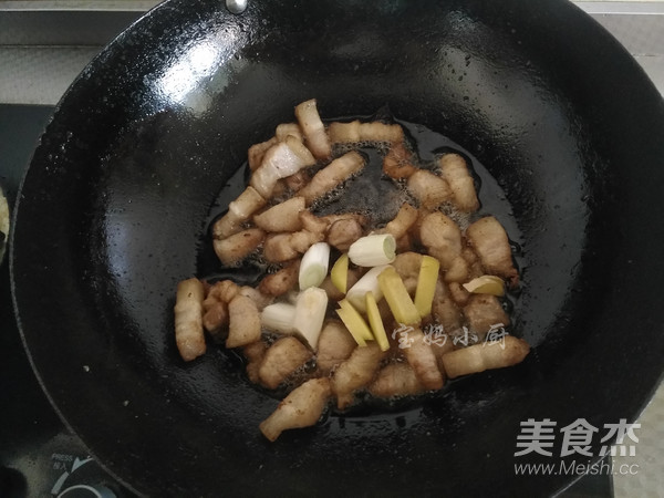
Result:
{"label": "palest wide pork piece, just below-left of the topmost upright piece", "polygon": [[272,197],[277,181],[315,164],[311,152],[294,136],[288,136],[266,152],[260,167],[251,175],[250,185],[264,198]]}

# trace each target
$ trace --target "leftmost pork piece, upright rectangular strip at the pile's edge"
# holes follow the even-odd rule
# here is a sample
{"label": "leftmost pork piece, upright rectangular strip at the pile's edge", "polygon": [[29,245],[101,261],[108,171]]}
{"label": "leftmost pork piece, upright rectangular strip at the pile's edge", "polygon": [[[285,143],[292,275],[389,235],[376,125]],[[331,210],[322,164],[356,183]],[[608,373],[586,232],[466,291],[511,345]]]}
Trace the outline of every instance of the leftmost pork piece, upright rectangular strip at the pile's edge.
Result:
{"label": "leftmost pork piece, upright rectangular strip at the pile's edge", "polygon": [[198,279],[183,280],[177,284],[175,299],[175,342],[184,361],[205,354],[203,333],[203,283]]}

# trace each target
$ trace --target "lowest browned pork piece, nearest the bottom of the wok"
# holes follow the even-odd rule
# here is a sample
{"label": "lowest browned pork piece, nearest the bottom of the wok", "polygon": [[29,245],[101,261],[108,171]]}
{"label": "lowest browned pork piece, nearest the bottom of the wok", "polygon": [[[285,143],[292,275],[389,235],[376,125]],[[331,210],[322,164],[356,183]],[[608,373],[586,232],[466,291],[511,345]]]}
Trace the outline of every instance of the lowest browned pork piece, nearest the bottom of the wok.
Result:
{"label": "lowest browned pork piece, nearest the bottom of the wok", "polygon": [[260,424],[260,432],[276,440],[283,430],[314,425],[330,400],[330,380],[312,378],[293,390]]}

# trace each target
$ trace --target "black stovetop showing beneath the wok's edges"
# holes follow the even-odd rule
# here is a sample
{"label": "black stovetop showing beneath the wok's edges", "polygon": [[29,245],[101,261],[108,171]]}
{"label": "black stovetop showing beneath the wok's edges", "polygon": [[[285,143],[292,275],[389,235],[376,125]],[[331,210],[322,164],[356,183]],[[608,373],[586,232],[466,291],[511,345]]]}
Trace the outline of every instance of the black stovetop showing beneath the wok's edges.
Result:
{"label": "black stovetop showing beneath the wok's edges", "polygon": [[[0,184],[10,209],[52,112],[0,104]],[[43,393],[15,324],[7,259],[0,264],[0,497],[133,497],[90,458]],[[587,476],[560,496],[612,497],[611,477]]]}

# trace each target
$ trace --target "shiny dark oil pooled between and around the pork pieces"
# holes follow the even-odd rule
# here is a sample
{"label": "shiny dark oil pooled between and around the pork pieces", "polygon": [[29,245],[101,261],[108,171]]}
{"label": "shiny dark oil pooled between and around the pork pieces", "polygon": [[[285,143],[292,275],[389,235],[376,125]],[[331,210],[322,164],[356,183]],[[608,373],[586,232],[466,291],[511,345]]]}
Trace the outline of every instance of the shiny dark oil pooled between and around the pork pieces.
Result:
{"label": "shiny dark oil pooled between and around the pork pieces", "polygon": [[[375,116],[345,117],[329,121],[352,121],[356,118],[361,121],[372,121],[375,120]],[[435,159],[445,153],[456,153],[466,159],[475,179],[480,208],[471,215],[443,208],[444,212],[453,218],[461,229],[465,229],[467,225],[483,216],[495,216],[510,238],[516,267],[523,268],[525,261],[521,251],[521,231],[518,228],[505,191],[491,176],[487,167],[485,167],[468,149],[424,125],[401,120],[394,120],[394,122],[401,124],[404,128],[406,142],[415,153],[416,157],[419,158],[419,167],[435,169]],[[336,146],[333,151],[333,156],[341,156],[350,149],[359,149],[365,156],[367,160],[365,168],[360,175],[351,178],[341,187],[329,193],[323,199],[317,201],[311,209],[314,214],[320,216],[336,212],[360,212],[369,218],[371,226],[380,228],[394,218],[404,201],[414,201],[407,193],[405,185],[400,185],[382,174],[383,157],[387,152],[384,144],[367,143]],[[212,225],[227,211],[228,204],[245,190],[249,184],[249,166],[245,163],[228,180],[209,211],[206,224],[206,238],[200,243],[198,257],[198,274],[201,279],[209,281],[231,279],[239,284],[253,286],[257,284],[266,273],[272,270],[272,268],[262,261],[259,256],[250,256],[238,267],[222,267],[215,255],[210,242]],[[333,256],[333,258],[335,256]],[[502,299],[502,305],[508,312],[511,322],[511,325],[508,328],[509,333],[515,332],[516,324],[516,328],[518,329],[518,290],[508,292]],[[243,356],[234,351],[227,352],[237,357],[238,367],[241,369],[245,364]],[[292,388],[307,380],[314,367],[314,362],[303,365],[291,376],[290,382],[284,383],[284,385],[280,386],[278,390],[266,390],[259,385],[252,385],[255,388],[258,388],[272,397],[282,400]],[[446,386],[449,382],[450,381],[447,381]],[[445,387],[443,391],[445,391]],[[360,415],[400,411],[412,406],[414,402],[421,403],[423,400],[437,394],[438,393],[426,393],[415,396],[384,400],[359,393],[356,396],[357,402],[353,406],[346,408],[343,414]],[[334,408],[333,413],[335,413]]]}

